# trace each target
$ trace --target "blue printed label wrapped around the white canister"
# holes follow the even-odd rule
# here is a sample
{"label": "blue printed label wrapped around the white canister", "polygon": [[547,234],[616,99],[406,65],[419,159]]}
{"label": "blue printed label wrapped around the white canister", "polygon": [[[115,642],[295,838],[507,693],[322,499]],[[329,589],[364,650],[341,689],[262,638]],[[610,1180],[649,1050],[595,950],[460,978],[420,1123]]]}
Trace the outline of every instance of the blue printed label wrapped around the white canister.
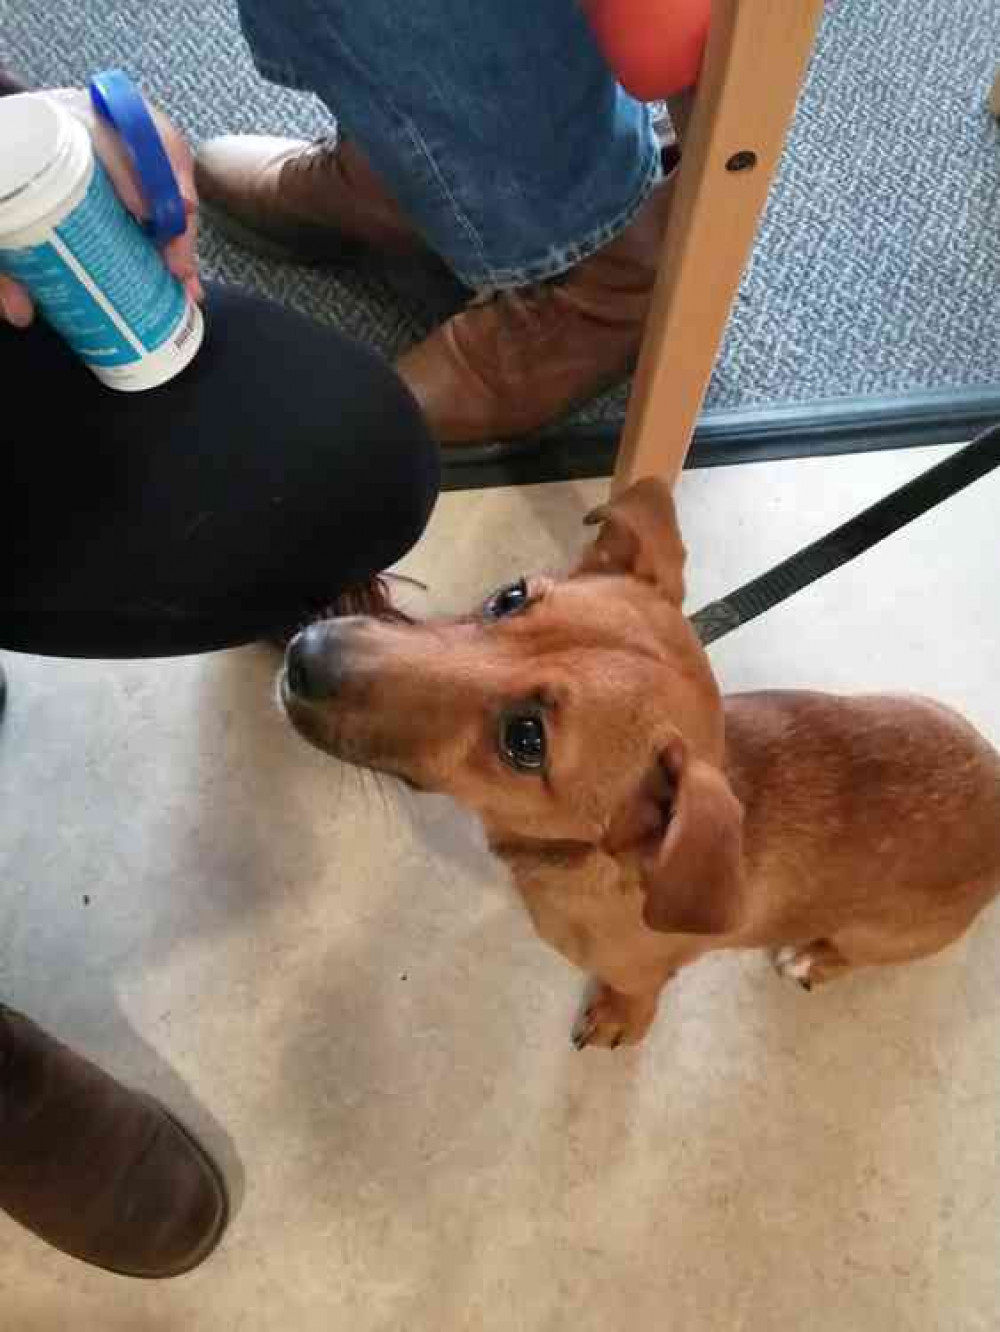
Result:
{"label": "blue printed label wrapped around the white canister", "polygon": [[130,365],[161,346],[186,297],[129,216],[104,168],[41,245],[0,248],[0,268],[28,288],[45,318],[84,361]]}

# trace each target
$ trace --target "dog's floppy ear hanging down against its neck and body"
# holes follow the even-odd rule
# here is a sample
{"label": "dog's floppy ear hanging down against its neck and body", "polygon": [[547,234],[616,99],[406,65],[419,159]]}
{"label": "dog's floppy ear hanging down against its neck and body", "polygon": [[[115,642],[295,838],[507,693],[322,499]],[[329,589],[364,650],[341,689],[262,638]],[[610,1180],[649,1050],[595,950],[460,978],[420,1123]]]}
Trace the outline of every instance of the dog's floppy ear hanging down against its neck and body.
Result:
{"label": "dog's floppy ear hanging down against its neck and body", "polygon": [[660,757],[672,814],[646,871],[643,918],[664,934],[730,934],[743,918],[743,806],[676,737]]}

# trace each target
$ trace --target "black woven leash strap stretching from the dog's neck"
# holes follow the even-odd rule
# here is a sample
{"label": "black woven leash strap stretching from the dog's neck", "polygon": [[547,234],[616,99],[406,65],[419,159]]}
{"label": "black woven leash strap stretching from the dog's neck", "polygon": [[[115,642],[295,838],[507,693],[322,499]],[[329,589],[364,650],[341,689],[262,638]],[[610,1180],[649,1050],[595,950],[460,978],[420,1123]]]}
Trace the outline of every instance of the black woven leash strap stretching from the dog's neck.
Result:
{"label": "black woven leash strap stretching from the dog's neck", "polygon": [[965,486],[1000,466],[1000,426],[993,426],[959,449],[944,462],[908,481],[899,490],[879,500],[871,509],[828,531],[766,574],[744,583],[736,591],[714,601],[691,615],[691,623],[707,647],[750,619],[776,606],[818,578],[856,559],[893,531],[949,500]]}

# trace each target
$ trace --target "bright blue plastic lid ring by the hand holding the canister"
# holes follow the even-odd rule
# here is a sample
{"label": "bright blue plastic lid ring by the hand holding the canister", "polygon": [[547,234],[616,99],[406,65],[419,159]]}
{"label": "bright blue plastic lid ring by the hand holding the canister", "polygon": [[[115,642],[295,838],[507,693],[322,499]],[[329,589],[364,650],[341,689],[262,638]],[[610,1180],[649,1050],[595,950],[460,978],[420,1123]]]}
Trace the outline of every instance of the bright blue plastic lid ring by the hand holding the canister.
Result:
{"label": "bright blue plastic lid ring by the hand holding the canister", "polygon": [[177,177],[138,88],[123,69],[105,69],[91,80],[91,101],[97,115],[117,131],[136,168],[149,209],[149,234],[161,244],[182,236],[188,214]]}

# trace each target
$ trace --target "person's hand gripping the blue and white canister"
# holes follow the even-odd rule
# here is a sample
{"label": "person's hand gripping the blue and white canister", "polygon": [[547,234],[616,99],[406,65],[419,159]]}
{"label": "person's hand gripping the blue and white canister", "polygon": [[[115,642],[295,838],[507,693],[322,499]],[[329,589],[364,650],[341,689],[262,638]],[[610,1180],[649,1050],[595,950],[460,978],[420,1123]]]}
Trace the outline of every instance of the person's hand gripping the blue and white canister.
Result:
{"label": "person's hand gripping the blue and white canister", "polygon": [[[47,89],[45,96],[61,101],[77,120],[83,121],[123,204],[133,217],[145,221],[148,217],[145,200],[125,147],[111,125],[95,113],[89,95],[80,88],[57,88]],[[188,294],[193,300],[201,301],[204,292],[198,280],[196,250],[198,196],[194,188],[194,159],[177,127],[156,107],[148,103],[146,105],[164,141],[164,151],[170,159],[188,214],[184,234],[168,241],[162,248],[162,256],[174,277],[184,284]],[[0,273],[0,321],[7,320],[16,328],[27,328],[33,317],[35,308],[25,289],[13,278]]]}

